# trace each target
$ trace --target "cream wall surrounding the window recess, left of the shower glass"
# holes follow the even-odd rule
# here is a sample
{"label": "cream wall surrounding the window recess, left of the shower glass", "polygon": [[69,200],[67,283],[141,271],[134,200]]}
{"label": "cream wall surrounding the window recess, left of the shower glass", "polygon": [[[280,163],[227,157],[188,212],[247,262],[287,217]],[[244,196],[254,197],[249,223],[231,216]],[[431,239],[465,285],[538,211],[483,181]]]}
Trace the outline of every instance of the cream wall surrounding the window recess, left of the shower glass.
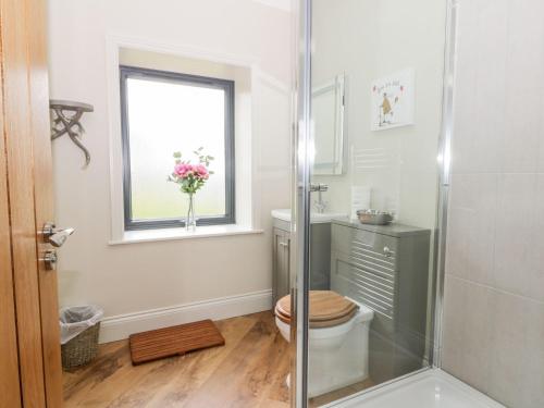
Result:
{"label": "cream wall surrounding the window recess, left of the shower glass", "polygon": [[[95,106],[81,151],[53,143],[57,223],[76,233],[61,249],[62,305],[94,302],[106,316],[262,293],[271,288],[270,210],[289,206],[292,17],[249,0],[51,0],[51,97]],[[252,197],[262,234],[111,246],[110,36],[240,61],[252,72]],[[189,52],[190,53],[190,52]],[[190,55],[186,55],[190,57]],[[121,135],[112,135],[121,137]],[[114,181],[115,182],[115,181]]]}

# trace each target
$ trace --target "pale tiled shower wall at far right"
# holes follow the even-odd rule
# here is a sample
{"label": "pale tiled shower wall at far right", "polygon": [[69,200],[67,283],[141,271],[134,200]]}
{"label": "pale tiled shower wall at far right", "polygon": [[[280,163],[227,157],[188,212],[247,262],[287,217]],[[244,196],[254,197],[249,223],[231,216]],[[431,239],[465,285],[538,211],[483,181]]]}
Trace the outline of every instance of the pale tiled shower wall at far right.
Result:
{"label": "pale tiled shower wall at far right", "polygon": [[457,1],[443,368],[544,407],[544,3]]}

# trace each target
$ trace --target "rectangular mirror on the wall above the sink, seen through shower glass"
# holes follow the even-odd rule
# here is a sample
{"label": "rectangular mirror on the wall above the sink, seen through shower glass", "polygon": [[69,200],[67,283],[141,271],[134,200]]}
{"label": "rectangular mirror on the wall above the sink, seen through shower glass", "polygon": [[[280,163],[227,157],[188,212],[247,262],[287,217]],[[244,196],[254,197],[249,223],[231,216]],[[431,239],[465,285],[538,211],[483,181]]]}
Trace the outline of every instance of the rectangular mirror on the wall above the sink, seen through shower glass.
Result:
{"label": "rectangular mirror on the wall above the sink, seen through shower glass", "polygon": [[344,74],[312,89],[314,174],[344,173]]}

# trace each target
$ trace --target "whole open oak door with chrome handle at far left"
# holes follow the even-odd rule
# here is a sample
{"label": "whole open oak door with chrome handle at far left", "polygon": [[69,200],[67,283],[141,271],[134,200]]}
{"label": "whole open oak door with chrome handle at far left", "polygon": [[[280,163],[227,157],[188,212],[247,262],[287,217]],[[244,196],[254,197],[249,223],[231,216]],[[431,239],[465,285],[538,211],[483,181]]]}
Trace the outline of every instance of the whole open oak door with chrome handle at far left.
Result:
{"label": "whole open oak door with chrome handle at far left", "polygon": [[[62,406],[60,336],[57,305],[57,275],[46,271],[39,259],[50,249],[40,232],[46,221],[52,221],[52,172],[49,128],[49,95],[46,49],[45,0],[0,0],[0,41],[2,64],[3,145],[5,157],[0,159],[0,226],[2,209],[8,210],[9,258],[2,256],[2,267],[9,259],[11,268],[0,276],[0,290],[9,293],[16,330],[2,321],[4,343],[16,335],[16,361],[5,382],[16,384],[20,395],[13,405],[0,399],[1,407]],[[4,183],[4,184],[2,184]],[[3,188],[2,185],[7,186]],[[5,213],[5,211],[3,211]],[[9,231],[7,233],[5,231]],[[2,237],[3,238],[3,237]],[[8,243],[8,244],[7,244]],[[3,255],[3,252],[2,252]],[[4,269],[2,268],[2,271]],[[9,294],[3,304],[9,304]],[[5,306],[9,309],[9,306]],[[9,316],[9,313],[8,313]],[[10,320],[10,319],[8,319]],[[14,344],[14,343],[13,343]],[[12,345],[13,346],[13,345]],[[2,356],[5,358],[5,356]],[[13,360],[13,358],[12,358]],[[5,387],[8,387],[5,385]],[[17,403],[18,401],[18,403]]]}

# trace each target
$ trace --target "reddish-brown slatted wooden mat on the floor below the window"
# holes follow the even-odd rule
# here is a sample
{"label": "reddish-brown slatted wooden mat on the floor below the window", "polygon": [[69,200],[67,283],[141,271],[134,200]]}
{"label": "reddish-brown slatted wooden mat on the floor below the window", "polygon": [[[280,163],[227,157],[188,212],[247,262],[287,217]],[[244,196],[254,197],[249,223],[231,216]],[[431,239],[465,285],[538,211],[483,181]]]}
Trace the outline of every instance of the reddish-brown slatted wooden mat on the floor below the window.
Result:
{"label": "reddish-brown slatted wooden mat on the floor below the window", "polygon": [[211,320],[137,333],[128,337],[133,364],[223,346],[225,339]]}

